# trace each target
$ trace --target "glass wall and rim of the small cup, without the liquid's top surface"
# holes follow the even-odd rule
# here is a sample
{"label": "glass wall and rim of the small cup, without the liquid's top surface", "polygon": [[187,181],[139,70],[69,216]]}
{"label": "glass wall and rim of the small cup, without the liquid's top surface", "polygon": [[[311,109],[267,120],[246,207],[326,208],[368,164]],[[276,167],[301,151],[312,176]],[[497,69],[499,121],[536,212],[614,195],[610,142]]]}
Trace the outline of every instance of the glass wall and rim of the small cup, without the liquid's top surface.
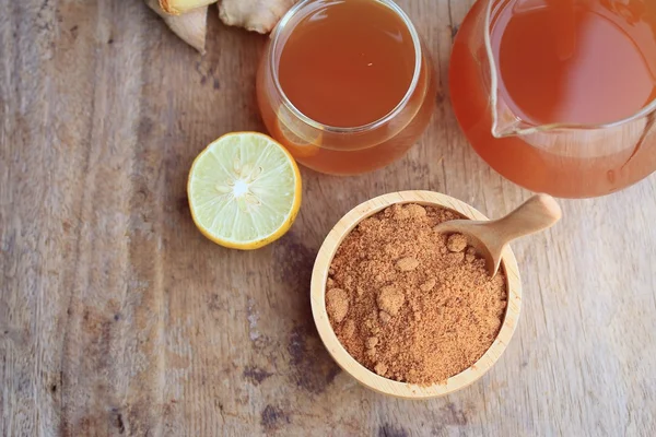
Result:
{"label": "glass wall and rim of the small cup, without the liquid's top surface", "polygon": [[362,126],[325,125],[298,110],[281,86],[281,54],[296,25],[317,7],[332,8],[341,1],[296,3],[271,33],[257,74],[258,105],[271,137],[298,163],[325,174],[356,175],[400,158],[427,127],[435,105],[433,64],[406,13],[390,0],[359,1],[389,8],[411,35],[414,49],[412,80],[402,99],[387,115]]}

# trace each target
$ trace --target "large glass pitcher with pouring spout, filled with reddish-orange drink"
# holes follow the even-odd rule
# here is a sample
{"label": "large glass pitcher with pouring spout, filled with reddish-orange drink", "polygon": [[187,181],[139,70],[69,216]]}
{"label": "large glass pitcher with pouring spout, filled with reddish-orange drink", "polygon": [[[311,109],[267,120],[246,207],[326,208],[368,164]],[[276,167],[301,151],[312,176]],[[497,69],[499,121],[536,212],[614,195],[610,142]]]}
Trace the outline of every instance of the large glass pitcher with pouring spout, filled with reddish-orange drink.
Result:
{"label": "large glass pitcher with pouring spout, filled with reddish-orange drink", "polygon": [[449,82],[473,149],[525,188],[596,197],[656,170],[654,0],[479,0]]}

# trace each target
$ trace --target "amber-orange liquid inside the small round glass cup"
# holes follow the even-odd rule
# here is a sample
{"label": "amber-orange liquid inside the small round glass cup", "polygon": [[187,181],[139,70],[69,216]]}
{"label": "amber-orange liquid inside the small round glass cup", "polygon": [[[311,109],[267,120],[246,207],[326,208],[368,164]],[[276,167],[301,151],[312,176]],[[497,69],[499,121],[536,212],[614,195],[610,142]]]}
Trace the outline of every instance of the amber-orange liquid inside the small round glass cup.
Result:
{"label": "amber-orange liquid inside the small round glass cup", "polygon": [[[289,101],[304,116],[336,128],[362,127],[390,114],[408,93],[415,69],[412,35],[401,16],[372,0],[318,0],[306,9],[284,40],[278,64]],[[405,109],[413,117],[391,137],[385,127],[364,134],[328,129],[308,135],[304,140],[313,144],[302,147],[280,132],[284,128],[269,107],[261,71],[258,101],[269,132],[298,162],[323,173],[359,174],[400,157],[426,127],[433,105],[422,103],[432,85],[430,72],[424,64]]]}

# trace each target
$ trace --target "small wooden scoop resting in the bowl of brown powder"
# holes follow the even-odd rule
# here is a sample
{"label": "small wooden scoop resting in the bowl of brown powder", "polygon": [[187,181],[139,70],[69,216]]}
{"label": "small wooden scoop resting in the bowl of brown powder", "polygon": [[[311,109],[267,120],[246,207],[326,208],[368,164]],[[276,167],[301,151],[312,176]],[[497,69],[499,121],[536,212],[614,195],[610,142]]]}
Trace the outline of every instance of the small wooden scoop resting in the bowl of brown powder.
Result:
{"label": "small wooden scoop resting in the bowl of brown powder", "polygon": [[465,235],[469,245],[485,258],[488,271],[494,276],[508,243],[553,226],[561,215],[561,209],[551,196],[536,194],[503,218],[488,222],[453,220],[438,224],[435,231]]}

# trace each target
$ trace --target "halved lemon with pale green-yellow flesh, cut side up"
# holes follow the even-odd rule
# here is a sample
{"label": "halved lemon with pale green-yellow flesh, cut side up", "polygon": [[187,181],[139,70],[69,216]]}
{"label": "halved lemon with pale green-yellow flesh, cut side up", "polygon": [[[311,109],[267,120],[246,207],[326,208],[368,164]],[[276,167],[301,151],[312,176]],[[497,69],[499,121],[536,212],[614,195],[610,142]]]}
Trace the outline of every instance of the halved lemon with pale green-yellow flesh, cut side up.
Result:
{"label": "halved lemon with pale green-yellow flesh, cut side up", "polygon": [[283,236],[301,205],[294,158],[257,132],[227,133],[194,161],[187,185],[196,226],[212,241],[257,249]]}

